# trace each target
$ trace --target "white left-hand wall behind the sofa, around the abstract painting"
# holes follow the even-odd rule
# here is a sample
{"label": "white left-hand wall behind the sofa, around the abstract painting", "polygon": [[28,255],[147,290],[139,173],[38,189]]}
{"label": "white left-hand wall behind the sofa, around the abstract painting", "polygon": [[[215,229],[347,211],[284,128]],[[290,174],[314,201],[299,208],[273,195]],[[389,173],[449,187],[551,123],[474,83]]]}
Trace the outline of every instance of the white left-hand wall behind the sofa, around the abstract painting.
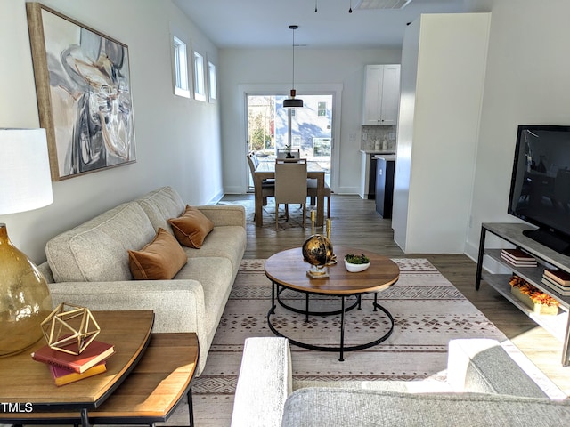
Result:
{"label": "white left-hand wall behind the sofa, around the abstract painting", "polygon": [[[14,245],[42,262],[49,238],[164,185],[175,187],[192,205],[220,197],[219,105],[173,95],[170,28],[186,33],[183,36],[214,63],[216,47],[170,1],[42,3],[128,45],[137,161],[53,182],[53,205],[0,216]],[[24,0],[0,2],[0,52],[0,127],[38,127]]]}

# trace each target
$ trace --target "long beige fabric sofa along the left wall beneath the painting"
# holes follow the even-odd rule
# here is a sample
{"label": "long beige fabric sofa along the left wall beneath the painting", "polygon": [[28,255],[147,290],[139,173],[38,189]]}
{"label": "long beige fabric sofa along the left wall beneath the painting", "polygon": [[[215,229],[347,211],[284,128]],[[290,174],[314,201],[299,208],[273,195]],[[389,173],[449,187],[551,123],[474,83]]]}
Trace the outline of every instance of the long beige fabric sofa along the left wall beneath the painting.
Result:
{"label": "long beige fabric sofa along the left wall beneath the painting", "polygon": [[188,262],[170,280],[134,280],[128,250],[139,251],[186,204],[170,187],[151,191],[51,239],[45,275],[53,304],[90,310],[154,310],[154,332],[195,332],[199,375],[246,247],[241,206],[196,206],[214,229],[199,248],[183,246]]}

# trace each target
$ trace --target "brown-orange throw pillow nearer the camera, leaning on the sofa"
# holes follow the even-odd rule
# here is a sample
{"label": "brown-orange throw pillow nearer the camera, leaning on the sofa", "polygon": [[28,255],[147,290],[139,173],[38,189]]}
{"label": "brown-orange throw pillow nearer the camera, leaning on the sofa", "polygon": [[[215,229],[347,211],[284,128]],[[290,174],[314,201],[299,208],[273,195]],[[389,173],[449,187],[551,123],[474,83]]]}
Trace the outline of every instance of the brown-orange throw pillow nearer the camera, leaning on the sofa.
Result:
{"label": "brown-orange throw pillow nearer the camera, leaning on the sofa", "polygon": [[139,280],[169,280],[183,268],[188,256],[167,230],[159,229],[140,251],[128,251],[133,277]]}

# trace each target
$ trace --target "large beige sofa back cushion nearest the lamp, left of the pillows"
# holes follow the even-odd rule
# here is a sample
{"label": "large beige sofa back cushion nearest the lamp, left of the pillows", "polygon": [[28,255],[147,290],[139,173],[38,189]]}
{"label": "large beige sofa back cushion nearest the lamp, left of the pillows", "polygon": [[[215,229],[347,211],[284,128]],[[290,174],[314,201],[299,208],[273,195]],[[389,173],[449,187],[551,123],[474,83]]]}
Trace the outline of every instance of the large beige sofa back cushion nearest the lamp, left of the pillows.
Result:
{"label": "large beige sofa back cushion nearest the lamp, left of the pillows", "polygon": [[126,251],[142,248],[155,234],[142,207],[131,202],[52,238],[45,254],[56,282],[131,280]]}

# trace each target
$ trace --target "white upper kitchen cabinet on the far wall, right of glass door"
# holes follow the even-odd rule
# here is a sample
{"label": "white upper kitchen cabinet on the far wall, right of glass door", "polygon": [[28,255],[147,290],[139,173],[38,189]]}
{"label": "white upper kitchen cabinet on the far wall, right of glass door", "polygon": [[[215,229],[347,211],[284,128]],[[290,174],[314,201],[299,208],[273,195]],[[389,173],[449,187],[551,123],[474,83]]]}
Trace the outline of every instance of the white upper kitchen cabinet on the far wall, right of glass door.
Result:
{"label": "white upper kitchen cabinet on the far wall, right of glass door", "polygon": [[367,65],[362,125],[395,125],[400,102],[400,65]]}

